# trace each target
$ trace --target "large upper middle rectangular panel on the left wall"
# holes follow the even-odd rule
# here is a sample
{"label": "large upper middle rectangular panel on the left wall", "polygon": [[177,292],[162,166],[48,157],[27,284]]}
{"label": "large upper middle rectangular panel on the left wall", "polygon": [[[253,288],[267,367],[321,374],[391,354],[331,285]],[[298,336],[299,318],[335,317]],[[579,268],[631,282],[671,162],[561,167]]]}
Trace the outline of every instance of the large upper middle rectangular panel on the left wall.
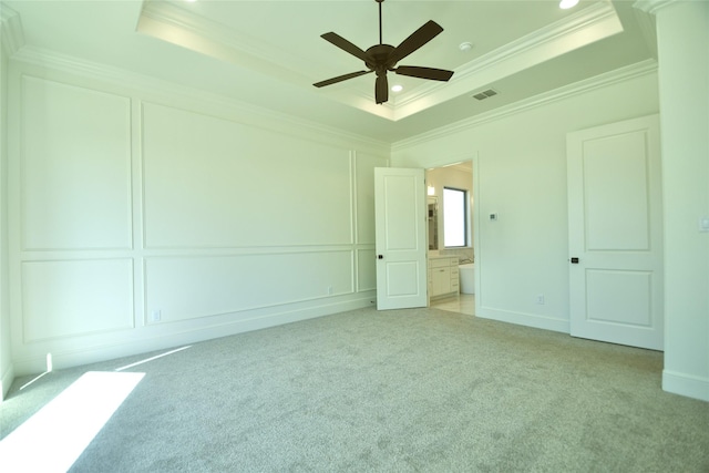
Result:
{"label": "large upper middle rectangular panel on the left wall", "polygon": [[350,244],[350,174],[347,148],[143,104],[148,248]]}

